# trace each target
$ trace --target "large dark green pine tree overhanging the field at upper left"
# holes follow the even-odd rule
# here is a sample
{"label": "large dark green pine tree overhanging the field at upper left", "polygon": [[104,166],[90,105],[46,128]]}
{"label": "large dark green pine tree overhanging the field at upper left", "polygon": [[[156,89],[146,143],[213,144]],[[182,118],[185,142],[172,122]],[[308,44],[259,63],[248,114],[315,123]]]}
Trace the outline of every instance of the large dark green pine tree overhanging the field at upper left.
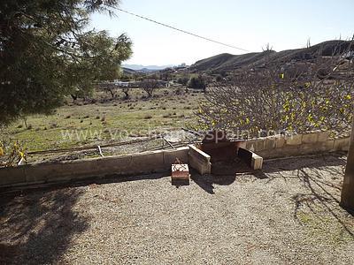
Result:
{"label": "large dark green pine tree overhanging the field at upper left", "polygon": [[65,95],[87,94],[114,79],[130,57],[131,41],[89,29],[92,12],[112,15],[119,0],[0,2],[0,125],[50,113]]}

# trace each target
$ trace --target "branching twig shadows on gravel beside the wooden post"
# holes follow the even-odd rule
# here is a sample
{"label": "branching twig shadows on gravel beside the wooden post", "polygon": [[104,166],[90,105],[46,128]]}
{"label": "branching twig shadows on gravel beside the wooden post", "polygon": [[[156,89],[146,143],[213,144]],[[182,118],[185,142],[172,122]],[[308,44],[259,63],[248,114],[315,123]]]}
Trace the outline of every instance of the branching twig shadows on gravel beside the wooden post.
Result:
{"label": "branching twig shadows on gravel beside the wooden post", "polygon": [[[276,173],[268,178],[267,184],[271,184],[277,178],[282,178],[285,182],[289,181],[289,178],[297,178],[306,188],[307,193],[291,194],[295,204],[296,220],[303,208],[310,209],[322,222],[328,222],[323,218],[323,214],[327,213],[335,223],[340,224],[351,239],[354,239],[354,228],[348,225],[348,219],[339,206],[345,165],[346,161],[342,155],[318,155],[268,162],[263,172]],[[289,174],[286,171],[293,172]]]}

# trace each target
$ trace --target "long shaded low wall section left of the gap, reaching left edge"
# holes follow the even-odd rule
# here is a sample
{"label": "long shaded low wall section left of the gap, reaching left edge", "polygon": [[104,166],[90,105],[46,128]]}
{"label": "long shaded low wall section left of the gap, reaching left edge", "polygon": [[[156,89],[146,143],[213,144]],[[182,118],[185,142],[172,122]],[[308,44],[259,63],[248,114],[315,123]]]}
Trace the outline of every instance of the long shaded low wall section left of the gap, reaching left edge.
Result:
{"label": "long shaded low wall section left of the gap, reaching left edge", "polygon": [[58,163],[27,164],[0,169],[0,187],[57,183],[109,175],[138,175],[171,170],[179,158],[189,160],[189,147],[144,152],[134,155],[114,155]]}

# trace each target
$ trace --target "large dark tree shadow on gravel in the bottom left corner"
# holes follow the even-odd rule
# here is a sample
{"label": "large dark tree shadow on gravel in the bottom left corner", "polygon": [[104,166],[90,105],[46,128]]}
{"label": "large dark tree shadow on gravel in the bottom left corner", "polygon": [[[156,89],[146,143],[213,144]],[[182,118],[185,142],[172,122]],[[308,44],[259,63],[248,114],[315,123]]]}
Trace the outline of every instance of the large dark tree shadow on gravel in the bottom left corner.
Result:
{"label": "large dark tree shadow on gravel in the bottom left corner", "polygon": [[52,264],[89,227],[73,206],[79,189],[1,194],[0,264]]}

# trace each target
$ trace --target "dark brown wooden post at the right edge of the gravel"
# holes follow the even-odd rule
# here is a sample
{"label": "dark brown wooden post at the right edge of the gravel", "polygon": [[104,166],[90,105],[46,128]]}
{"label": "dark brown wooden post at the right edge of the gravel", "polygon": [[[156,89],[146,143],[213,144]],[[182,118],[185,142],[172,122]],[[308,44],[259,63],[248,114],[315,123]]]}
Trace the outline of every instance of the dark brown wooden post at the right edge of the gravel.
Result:
{"label": "dark brown wooden post at the right edge of the gravel", "polygon": [[354,212],[354,119],[351,126],[350,149],[342,186],[342,208]]}

